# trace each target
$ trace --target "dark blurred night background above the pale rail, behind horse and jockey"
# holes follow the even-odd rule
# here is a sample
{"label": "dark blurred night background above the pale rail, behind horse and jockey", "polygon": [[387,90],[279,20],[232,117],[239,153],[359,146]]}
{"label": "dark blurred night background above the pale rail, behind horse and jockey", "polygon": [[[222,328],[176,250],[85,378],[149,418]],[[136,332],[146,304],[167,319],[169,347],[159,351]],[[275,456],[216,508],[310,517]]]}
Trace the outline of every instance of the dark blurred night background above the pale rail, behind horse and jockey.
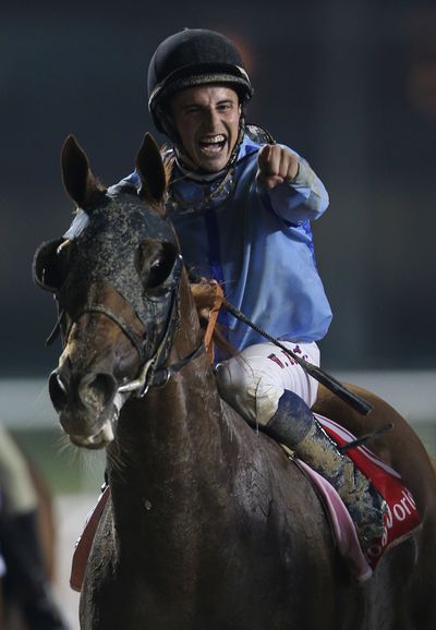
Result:
{"label": "dark blurred night background above the pale rail, behind horse and jockey", "polygon": [[15,2],[0,19],[0,376],[45,376],[59,354],[44,346],[55,306],[31,265],[70,223],[64,137],[106,183],[130,172],[153,130],[148,61],[183,26],[240,45],[249,121],[304,155],[330,193],[314,226],[335,313],[324,365],[435,367],[434,0]]}

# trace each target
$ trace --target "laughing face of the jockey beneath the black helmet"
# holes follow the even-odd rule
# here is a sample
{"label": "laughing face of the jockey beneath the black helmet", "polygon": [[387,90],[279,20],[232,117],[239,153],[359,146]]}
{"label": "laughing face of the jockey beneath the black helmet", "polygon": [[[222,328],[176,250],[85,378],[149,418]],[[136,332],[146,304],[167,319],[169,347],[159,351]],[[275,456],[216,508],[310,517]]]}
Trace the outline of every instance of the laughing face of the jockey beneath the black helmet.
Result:
{"label": "laughing face of the jockey beneath the black helmet", "polygon": [[221,85],[187,87],[172,98],[171,114],[193,166],[210,173],[222,170],[238,141],[238,94]]}

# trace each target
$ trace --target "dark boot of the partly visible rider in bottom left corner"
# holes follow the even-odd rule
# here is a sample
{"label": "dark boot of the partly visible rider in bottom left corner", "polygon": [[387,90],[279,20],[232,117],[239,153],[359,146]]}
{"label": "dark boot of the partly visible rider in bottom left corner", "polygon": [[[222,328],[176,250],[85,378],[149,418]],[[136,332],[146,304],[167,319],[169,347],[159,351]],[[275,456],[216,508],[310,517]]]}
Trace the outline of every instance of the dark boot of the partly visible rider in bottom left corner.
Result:
{"label": "dark boot of the partly visible rider in bottom left corner", "polygon": [[8,591],[29,630],[66,630],[47,580],[37,534],[36,512],[1,514],[0,540]]}

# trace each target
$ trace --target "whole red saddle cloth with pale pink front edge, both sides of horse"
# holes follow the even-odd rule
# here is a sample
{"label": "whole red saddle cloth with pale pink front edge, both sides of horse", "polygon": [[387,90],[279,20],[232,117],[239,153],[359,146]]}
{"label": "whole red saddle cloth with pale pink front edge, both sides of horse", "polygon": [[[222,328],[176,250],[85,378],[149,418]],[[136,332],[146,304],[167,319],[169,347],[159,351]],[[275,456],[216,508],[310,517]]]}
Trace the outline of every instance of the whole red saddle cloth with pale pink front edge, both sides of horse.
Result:
{"label": "whole red saddle cloth with pale pink front edge, both sides of horse", "polygon": [[[336,422],[318,414],[315,414],[315,417],[338,446],[343,446],[355,439],[354,435]],[[303,461],[295,459],[295,462],[312,481],[318,496],[324,501],[338,550],[344,558],[350,572],[359,581],[365,581],[373,574],[383,554],[409,537],[419,528],[420,516],[412,494],[401,483],[400,475],[393,469],[364,446],[351,448],[347,455],[372,481],[374,487],[387,502],[384,535],[373,542],[366,556],[360,547],[350,513],[336,489]],[[76,543],[70,577],[70,586],[74,591],[82,589],[94,536],[109,497],[110,488],[107,486],[88,516],[83,533]]]}

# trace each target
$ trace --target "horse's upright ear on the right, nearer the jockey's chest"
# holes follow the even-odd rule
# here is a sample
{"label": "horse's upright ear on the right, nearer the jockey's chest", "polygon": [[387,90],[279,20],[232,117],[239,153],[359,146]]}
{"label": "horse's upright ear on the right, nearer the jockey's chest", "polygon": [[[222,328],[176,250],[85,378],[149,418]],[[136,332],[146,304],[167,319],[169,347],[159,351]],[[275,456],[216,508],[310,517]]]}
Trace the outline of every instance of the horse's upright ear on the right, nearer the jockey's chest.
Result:
{"label": "horse's upright ear on the right, nearer the jockey's chest", "polygon": [[141,178],[142,195],[160,204],[167,190],[167,174],[155,138],[146,133],[136,155],[136,171]]}

